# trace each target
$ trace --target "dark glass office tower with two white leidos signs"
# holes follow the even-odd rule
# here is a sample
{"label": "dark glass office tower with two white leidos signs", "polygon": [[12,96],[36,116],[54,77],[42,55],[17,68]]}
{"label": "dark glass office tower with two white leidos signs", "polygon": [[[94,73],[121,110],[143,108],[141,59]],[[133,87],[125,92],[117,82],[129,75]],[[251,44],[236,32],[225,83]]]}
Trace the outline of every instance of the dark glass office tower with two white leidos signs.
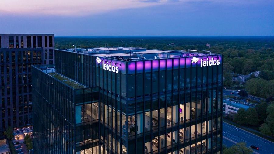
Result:
{"label": "dark glass office tower with two white leidos signs", "polygon": [[223,55],[60,49],[32,80],[35,153],[221,153]]}

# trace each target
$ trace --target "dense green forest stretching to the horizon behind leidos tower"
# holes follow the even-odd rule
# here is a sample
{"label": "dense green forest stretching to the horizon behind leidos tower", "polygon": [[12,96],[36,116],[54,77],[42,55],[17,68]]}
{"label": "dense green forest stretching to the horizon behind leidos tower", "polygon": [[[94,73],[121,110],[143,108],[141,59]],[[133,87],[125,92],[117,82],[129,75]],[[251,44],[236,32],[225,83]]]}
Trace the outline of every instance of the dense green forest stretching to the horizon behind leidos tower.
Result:
{"label": "dense green forest stretching to the horizon behind leidos tower", "polygon": [[[206,44],[210,44],[210,48]],[[267,98],[274,94],[274,37],[55,37],[55,48],[127,46],[163,50],[211,50],[224,55],[224,85],[238,74],[261,71],[250,79],[250,94]],[[254,88],[255,85],[258,87]]]}

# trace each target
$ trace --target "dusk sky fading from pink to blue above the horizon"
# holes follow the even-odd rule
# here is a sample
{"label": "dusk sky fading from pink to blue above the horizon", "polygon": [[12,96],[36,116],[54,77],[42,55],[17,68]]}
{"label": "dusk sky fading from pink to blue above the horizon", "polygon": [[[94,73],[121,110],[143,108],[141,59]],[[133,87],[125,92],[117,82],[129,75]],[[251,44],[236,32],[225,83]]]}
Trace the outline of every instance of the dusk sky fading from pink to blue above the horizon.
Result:
{"label": "dusk sky fading from pink to blue above the horizon", "polygon": [[1,0],[0,33],[274,36],[273,0]]}

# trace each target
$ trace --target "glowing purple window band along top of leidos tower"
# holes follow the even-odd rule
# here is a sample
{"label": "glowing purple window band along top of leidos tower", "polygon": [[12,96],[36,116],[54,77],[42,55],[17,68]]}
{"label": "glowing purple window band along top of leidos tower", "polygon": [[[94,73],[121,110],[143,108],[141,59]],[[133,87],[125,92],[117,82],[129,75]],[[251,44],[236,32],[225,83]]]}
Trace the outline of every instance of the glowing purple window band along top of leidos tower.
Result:
{"label": "glowing purple window band along top of leidos tower", "polygon": [[[101,59],[104,60],[104,63],[112,62],[113,65],[118,66],[119,71],[121,71],[122,74],[126,74],[126,63],[128,63],[128,74],[134,74],[135,69],[136,69],[136,73],[143,73],[144,71],[143,68],[145,68],[145,72],[151,72],[151,69],[152,71],[159,71],[159,70],[171,70],[172,67],[173,69],[188,68],[188,67],[191,67],[191,64],[192,64],[192,67],[200,67],[201,60],[199,60],[197,63],[191,63],[192,58],[193,57],[183,57],[183,58],[142,60],[142,61],[130,61],[130,62],[111,60],[107,58],[101,58]],[[207,60],[207,58],[209,60],[213,58],[213,60],[220,60],[220,63],[222,63],[222,55],[197,56],[196,58],[199,58],[199,59],[202,58],[203,61]],[[100,64],[100,67],[102,67],[102,64]]]}

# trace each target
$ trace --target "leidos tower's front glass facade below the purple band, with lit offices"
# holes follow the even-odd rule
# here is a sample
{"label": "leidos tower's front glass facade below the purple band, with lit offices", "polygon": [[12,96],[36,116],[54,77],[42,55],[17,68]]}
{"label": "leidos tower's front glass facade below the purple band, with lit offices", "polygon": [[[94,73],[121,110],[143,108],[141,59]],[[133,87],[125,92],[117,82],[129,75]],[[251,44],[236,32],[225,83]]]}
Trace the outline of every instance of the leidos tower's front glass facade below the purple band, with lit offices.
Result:
{"label": "leidos tower's front glass facade below the purple band, with lit offices", "polygon": [[222,67],[152,70],[125,75],[98,69],[97,84],[121,96],[115,100],[101,91],[101,122],[121,135],[102,136],[105,149],[119,154],[219,152]]}

